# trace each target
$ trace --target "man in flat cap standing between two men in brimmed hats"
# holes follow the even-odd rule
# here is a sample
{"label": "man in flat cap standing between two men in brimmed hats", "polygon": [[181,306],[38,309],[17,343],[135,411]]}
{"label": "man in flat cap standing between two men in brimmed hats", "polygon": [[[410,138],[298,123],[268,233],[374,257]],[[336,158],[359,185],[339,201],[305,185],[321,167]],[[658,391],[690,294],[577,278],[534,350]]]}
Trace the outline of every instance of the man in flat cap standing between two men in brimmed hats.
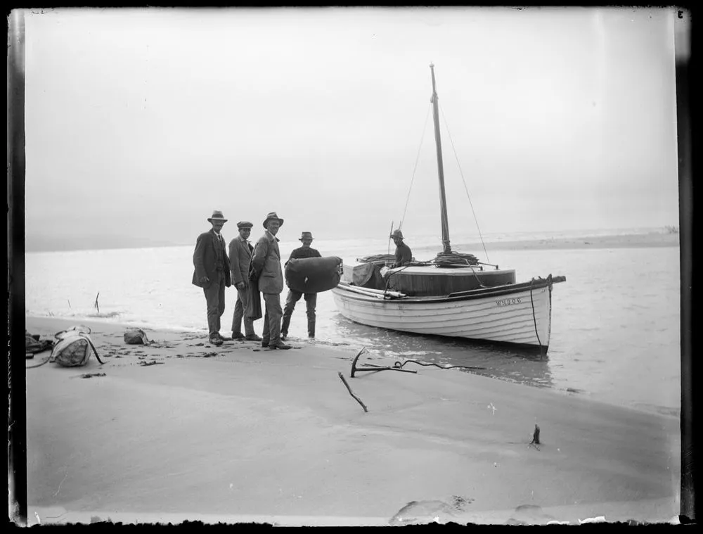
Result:
{"label": "man in flat cap standing between two men in brimmed hats", "polygon": [[[234,305],[232,319],[232,339],[246,339],[247,341],[262,341],[254,333],[254,320],[244,316],[249,302],[249,264],[252,261],[254,247],[249,243],[254,224],[248,221],[237,223],[239,235],[229,242],[229,265],[232,269],[232,283],[237,288],[237,302]],[[242,333],[242,319],[244,319],[244,332]]]}

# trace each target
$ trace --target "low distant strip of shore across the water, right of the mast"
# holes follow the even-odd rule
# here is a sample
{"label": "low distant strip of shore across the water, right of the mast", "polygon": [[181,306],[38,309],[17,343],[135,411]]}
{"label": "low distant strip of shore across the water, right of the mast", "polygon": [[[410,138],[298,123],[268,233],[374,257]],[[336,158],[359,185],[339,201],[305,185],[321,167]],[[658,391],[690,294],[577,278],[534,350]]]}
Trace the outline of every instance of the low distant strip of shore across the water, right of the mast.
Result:
{"label": "low distant strip of shore across the water, right of the mast", "polygon": [[[529,241],[490,241],[488,250],[559,250],[568,248],[644,248],[678,247],[678,234],[624,234],[621,236],[585,236],[531,239]],[[457,250],[479,250],[481,243],[462,243]]]}

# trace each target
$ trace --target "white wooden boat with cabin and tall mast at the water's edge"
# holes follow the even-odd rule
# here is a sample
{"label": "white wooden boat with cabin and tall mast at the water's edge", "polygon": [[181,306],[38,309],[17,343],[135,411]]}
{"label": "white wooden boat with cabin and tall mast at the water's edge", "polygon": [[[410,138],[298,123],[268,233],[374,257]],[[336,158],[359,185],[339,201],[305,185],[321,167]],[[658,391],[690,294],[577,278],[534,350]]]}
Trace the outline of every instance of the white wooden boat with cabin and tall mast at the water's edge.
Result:
{"label": "white wooden boat with cabin and tall mast at the water's edge", "polygon": [[347,319],[382,329],[511,343],[546,353],[552,288],[565,276],[516,284],[515,270],[451,250],[434,65],[430,69],[444,250],[429,262],[395,269],[385,267],[388,258],[382,256],[344,265],[342,281],[332,290],[337,309]]}

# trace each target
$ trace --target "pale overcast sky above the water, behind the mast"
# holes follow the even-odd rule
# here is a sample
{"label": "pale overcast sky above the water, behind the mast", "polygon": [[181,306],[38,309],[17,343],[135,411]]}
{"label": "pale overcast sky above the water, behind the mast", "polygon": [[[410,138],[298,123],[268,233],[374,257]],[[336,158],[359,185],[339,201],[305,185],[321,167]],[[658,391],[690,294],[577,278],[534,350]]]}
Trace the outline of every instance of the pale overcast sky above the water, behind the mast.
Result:
{"label": "pale overcast sky above the water, behind the mast", "polygon": [[678,224],[670,8],[34,11],[27,250]]}

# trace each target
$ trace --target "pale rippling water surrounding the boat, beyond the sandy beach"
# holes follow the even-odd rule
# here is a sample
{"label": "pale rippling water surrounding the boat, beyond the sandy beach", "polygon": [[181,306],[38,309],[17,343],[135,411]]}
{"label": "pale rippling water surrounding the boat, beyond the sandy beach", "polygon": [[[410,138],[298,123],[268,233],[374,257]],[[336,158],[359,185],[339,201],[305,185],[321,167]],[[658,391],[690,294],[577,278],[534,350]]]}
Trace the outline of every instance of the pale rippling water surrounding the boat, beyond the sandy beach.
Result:
{"label": "pale rippling water surrounding the boat, beyond the sandy beach", "polygon": [[[281,237],[285,260],[299,242]],[[411,241],[415,258],[432,258],[439,250],[435,241]],[[465,242],[475,241],[467,236]],[[323,256],[339,256],[345,262],[388,252],[385,240],[316,240],[314,246]],[[546,357],[355,324],[337,311],[329,291],[318,294],[315,343],[346,343],[353,350],[363,346],[370,355],[388,361],[482,367],[473,372],[616,405],[678,414],[681,295],[677,246],[491,251],[487,243],[486,251],[461,251],[484,261],[489,252],[491,263],[516,270],[517,281],[548,274],[566,276],[565,283],[553,287]],[[205,298],[202,289],[191,284],[192,255],[193,246],[27,253],[26,313],[74,319],[76,324],[91,320],[199,331],[205,337]],[[231,331],[235,300],[236,290],[228,288],[223,335]],[[281,300],[285,301],[285,290]],[[309,343],[306,321],[301,299],[289,329],[294,345]],[[254,322],[254,328],[260,334],[262,321]],[[414,364],[405,368],[422,369]]]}

